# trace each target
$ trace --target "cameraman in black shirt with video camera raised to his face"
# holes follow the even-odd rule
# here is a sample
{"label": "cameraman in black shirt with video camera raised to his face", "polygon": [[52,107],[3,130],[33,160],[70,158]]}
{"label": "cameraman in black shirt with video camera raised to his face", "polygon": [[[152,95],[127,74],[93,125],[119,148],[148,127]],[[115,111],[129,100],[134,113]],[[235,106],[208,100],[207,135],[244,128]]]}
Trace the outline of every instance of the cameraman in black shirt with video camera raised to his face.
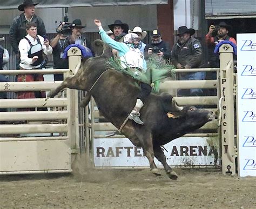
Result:
{"label": "cameraman in black shirt with video camera raised to his face", "polygon": [[[62,30],[64,24],[65,23],[63,22],[58,26],[59,32],[57,36],[50,41],[50,45],[52,47],[54,69],[69,69],[69,60],[63,59],[64,50],[68,45],[70,45],[69,35],[63,34],[65,33],[65,31]],[[55,74],[53,76],[54,80],[63,80],[63,74]]]}

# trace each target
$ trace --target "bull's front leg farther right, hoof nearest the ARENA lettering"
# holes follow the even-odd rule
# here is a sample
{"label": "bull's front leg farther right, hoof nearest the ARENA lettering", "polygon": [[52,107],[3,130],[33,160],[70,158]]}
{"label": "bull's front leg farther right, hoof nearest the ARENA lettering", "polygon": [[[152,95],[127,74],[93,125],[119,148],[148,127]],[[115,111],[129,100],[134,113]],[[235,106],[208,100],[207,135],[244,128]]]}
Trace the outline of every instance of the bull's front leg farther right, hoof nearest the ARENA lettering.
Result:
{"label": "bull's front leg farther right, hoof nearest the ARENA lettering", "polygon": [[178,175],[167,164],[164,152],[163,152],[163,150],[161,150],[161,147],[159,145],[154,145],[154,156],[161,162],[161,164],[163,164],[164,169],[165,169],[166,173],[168,174],[169,178],[176,180],[178,178]]}

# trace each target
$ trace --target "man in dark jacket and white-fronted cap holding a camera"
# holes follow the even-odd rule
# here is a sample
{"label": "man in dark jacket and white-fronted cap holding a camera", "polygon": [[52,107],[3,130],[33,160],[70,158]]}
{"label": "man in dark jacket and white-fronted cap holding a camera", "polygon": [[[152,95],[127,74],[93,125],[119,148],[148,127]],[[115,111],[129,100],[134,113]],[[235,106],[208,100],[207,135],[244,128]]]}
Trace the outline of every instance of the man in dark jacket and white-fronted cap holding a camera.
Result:
{"label": "man in dark jacket and white-fronted cap holding a camera", "polygon": [[147,44],[144,49],[145,59],[153,55],[157,55],[160,58],[166,60],[170,59],[171,49],[169,43],[161,39],[161,33],[158,29],[153,30],[151,33],[151,43]]}

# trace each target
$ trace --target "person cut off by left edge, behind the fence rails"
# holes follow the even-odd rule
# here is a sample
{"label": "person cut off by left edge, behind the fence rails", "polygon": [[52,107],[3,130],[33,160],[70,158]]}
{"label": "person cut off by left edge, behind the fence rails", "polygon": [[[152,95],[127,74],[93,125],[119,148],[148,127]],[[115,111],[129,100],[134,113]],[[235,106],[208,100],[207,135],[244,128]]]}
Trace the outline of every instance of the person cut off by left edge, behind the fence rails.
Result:
{"label": "person cut off by left edge, behind the fence rails", "polygon": [[[9,62],[9,53],[1,45],[2,41],[4,41],[4,37],[0,38],[0,70],[3,70],[5,67],[5,64]],[[8,82],[8,79],[4,75],[0,74],[0,82]],[[7,93],[0,91],[0,99],[7,99]],[[6,109],[0,109],[0,112],[5,112],[5,111]]]}

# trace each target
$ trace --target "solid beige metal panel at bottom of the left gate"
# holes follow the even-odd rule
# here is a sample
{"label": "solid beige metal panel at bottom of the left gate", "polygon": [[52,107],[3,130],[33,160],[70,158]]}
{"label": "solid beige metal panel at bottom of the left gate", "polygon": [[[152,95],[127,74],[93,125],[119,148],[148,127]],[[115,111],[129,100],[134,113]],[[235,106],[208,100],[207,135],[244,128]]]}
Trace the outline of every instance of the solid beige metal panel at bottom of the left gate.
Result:
{"label": "solid beige metal panel at bottom of the left gate", "polygon": [[70,142],[69,140],[2,141],[0,168],[0,173],[55,170],[71,172]]}

